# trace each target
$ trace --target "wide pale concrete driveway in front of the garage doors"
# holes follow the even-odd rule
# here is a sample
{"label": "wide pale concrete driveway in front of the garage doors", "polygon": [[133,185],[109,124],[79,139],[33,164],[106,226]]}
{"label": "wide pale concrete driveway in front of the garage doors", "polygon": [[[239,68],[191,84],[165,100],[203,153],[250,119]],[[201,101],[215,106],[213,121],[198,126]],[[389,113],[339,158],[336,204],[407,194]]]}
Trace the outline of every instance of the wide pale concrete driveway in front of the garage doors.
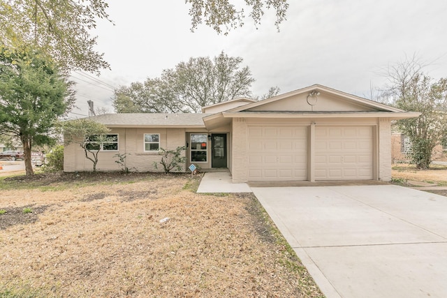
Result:
{"label": "wide pale concrete driveway in front of the garage doors", "polygon": [[327,297],[447,297],[447,198],[392,185],[251,187]]}

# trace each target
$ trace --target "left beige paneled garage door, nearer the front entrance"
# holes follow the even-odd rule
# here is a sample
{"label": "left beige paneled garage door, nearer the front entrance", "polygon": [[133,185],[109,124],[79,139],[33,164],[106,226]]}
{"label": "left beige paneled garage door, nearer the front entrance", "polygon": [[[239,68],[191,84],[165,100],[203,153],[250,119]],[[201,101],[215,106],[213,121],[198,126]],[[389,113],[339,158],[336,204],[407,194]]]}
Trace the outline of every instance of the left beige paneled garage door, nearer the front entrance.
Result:
{"label": "left beige paneled garage door, nearer the front entrance", "polygon": [[249,126],[249,181],[307,179],[307,127]]}

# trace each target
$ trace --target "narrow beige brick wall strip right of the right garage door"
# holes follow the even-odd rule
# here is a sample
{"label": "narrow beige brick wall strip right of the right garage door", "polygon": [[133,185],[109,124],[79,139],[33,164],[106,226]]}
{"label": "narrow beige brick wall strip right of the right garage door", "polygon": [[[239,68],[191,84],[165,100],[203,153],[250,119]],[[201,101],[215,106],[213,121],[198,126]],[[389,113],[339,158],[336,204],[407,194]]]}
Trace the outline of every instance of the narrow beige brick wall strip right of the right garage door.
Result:
{"label": "narrow beige brick wall strip right of the right garage door", "polygon": [[391,181],[391,123],[379,119],[379,180]]}

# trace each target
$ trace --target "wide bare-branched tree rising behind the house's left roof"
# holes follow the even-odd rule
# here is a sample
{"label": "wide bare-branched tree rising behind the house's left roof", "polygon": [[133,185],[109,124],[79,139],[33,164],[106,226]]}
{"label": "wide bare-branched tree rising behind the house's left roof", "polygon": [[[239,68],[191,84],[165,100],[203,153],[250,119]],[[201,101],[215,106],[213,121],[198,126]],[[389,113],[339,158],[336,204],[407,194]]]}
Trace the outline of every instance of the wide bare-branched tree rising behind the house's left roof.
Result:
{"label": "wide bare-branched tree rising behind the house's left roof", "polygon": [[191,58],[163,70],[160,78],[133,82],[115,90],[116,112],[200,112],[201,107],[237,97],[250,97],[254,78],[242,58]]}

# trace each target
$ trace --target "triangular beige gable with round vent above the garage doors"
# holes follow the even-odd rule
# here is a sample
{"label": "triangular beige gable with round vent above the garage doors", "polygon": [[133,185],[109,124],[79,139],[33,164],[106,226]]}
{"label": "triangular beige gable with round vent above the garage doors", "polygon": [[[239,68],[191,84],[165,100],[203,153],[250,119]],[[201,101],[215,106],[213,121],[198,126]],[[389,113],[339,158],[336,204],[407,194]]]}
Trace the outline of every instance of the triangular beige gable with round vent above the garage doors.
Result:
{"label": "triangular beige gable with round vent above the garage doors", "polygon": [[404,112],[318,84],[236,107],[228,112]]}

